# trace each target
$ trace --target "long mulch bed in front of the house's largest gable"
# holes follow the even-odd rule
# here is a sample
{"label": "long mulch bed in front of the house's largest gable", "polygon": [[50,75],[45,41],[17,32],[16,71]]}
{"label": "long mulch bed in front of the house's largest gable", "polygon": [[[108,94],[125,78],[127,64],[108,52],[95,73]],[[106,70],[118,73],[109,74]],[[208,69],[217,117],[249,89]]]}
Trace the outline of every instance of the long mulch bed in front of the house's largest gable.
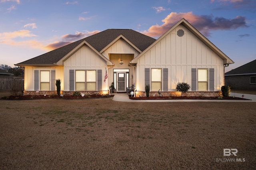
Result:
{"label": "long mulch bed in front of the house's largest gable", "polygon": [[132,100],[250,100],[244,99],[240,97],[222,97],[222,99],[218,99],[218,97],[195,97],[195,96],[180,96],[180,97],[131,97]]}

